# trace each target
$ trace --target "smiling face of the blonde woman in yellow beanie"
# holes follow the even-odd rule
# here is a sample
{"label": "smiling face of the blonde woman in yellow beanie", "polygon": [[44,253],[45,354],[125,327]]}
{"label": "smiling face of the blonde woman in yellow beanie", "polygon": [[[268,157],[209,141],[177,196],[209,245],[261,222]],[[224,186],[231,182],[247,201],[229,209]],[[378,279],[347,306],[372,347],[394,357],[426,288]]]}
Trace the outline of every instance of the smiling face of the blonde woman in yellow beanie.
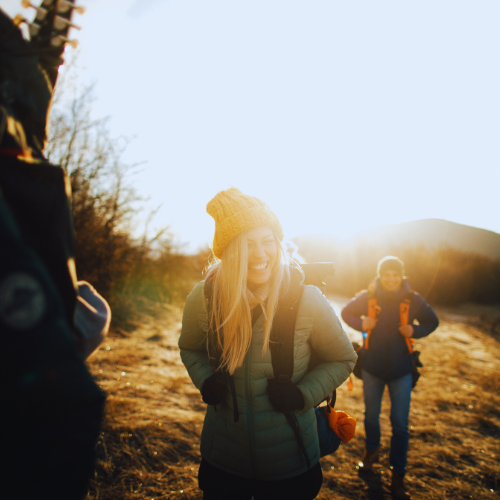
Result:
{"label": "smiling face of the blonde woman in yellow beanie", "polygon": [[248,288],[267,283],[278,258],[274,233],[269,227],[256,227],[247,231]]}

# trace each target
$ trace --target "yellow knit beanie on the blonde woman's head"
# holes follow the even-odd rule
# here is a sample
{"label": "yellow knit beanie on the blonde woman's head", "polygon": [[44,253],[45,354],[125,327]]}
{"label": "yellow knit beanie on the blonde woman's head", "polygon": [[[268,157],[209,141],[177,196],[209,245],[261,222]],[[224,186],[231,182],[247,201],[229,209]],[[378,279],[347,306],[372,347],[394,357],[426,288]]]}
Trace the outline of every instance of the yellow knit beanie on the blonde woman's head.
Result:
{"label": "yellow knit beanie on the blonde woman's head", "polygon": [[283,229],[276,215],[263,201],[243,194],[238,188],[219,191],[208,202],[207,212],[215,220],[212,250],[219,259],[237,234],[254,227],[270,227],[283,240]]}

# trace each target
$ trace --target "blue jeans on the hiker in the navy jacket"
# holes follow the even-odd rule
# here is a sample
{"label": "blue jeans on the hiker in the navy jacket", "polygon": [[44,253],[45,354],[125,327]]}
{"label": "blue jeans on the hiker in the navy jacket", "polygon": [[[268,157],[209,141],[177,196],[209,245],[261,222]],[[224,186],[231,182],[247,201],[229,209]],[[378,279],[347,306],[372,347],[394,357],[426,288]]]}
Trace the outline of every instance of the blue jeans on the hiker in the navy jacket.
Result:
{"label": "blue jeans on the hiker in the navy jacket", "polygon": [[411,373],[404,377],[385,382],[363,370],[363,394],[365,399],[366,449],[374,451],[380,444],[380,409],[385,386],[391,397],[391,453],[389,463],[398,474],[406,472],[408,453],[408,416],[411,401]]}

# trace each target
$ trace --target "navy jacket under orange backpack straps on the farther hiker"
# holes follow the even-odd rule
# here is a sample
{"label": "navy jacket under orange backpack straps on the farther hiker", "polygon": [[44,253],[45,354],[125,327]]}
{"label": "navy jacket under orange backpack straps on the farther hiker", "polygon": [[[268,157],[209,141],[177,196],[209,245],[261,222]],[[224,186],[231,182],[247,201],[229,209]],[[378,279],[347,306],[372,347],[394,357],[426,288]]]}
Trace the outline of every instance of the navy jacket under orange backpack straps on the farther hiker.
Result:
{"label": "navy jacket under orange backpack straps on the farther hiker", "polygon": [[[405,338],[399,333],[399,304],[410,290],[404,279],[398,292],[382,289],[375,280],[375,297],[380,307],[377,326],[370,334],[369,349],[362,351],[363,370],[385,381],[394,380],[411,373],[412,359]],[[362,331],[361,316],[368,316],[367,292],[354,297],[342,310],[343,320],[352,328]],[[418,325],[414,321],[418,321]],[[429,335],[439,325],[439,320],[418,293],[413,293],[410,303],[409,324],[413,325],[413,338]]]}

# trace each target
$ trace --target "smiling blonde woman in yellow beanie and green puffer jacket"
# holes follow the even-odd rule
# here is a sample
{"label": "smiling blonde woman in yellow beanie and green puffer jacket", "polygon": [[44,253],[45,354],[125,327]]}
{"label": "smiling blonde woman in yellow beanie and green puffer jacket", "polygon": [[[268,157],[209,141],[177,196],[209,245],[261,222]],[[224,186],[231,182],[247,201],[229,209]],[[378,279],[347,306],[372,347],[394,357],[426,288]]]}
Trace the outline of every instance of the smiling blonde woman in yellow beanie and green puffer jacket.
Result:
{"label": "smiling blonde woman in yellow beanie and green puffer jacket", "polygon": [[[326,297],[306,286],[293,376],[279,383],[271,327],[279,301],[300,287],[302,272],[281,245],[277,217],[258,198],[231,188],[207,212],[215,219],[216,260],[187,297],[179,338],[182,362],[208,405],[198,475],[203,498],[313,499],[323,480],[314,407],[346,380],[356,354]],[[308,372],[312,350],[321,364]]]}

